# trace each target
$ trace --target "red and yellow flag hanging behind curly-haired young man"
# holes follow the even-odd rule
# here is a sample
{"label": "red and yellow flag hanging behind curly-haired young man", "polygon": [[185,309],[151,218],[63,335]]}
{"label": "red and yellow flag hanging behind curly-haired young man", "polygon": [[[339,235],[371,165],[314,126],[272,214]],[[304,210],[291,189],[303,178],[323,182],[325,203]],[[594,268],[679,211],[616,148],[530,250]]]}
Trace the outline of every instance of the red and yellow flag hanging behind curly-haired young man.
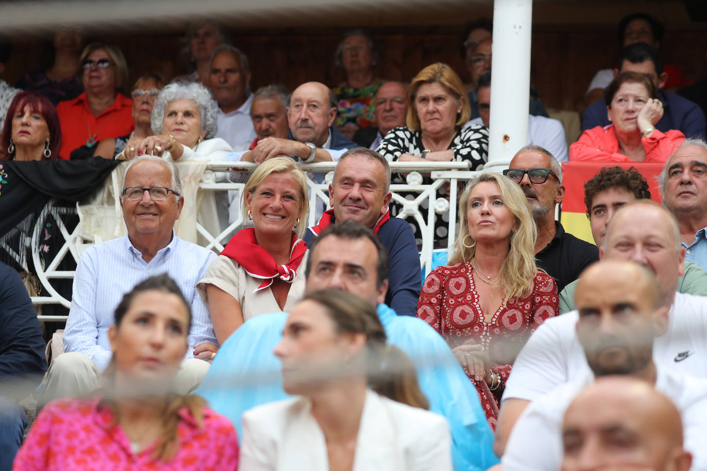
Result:
{"label": "red and yellow flag hanging behind curly-haired young man", "polygon": [[584,184],[599,173],[602,167],[618,165],[623,169],[635,167],[643,178],[648,180],[650,197],[661,203],[658,189],[658,175],[665,164],[659,162],[568,162],[562,165],[562,183],[565,186],[565,196],[561,205],[560,222],[566,232],[594,244],[592,230],[587,217],[587,206],[584,204]]}

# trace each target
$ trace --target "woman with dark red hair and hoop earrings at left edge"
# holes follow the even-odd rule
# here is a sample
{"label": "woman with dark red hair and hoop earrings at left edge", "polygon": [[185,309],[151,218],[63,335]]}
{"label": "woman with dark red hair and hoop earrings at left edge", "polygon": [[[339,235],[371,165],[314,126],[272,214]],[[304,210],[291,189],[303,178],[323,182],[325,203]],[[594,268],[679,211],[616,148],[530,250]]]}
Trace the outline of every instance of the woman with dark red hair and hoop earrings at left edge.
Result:
{"label": "woman with dark red hair and hoop earrings at left edge", "polygon": [[62,129],[57,110],[36,93],[18,93],[2,130],[0,160],[57,160]]}

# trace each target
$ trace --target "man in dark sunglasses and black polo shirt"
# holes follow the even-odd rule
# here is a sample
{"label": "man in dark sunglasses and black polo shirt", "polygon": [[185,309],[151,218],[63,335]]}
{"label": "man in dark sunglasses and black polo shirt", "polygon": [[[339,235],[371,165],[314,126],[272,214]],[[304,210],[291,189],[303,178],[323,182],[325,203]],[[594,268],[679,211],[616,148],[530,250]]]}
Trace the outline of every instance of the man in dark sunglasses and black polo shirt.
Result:
{"label": "man in dark sunglasses and black polo shirt", "polygon": [[[587,266],[599,260],[599,249],[567,234],[560,222],[555,220],[555,206],[562,202],[565,187],[562,184],[562,168],[551,153],[539,145],[526,145],[510,161],[509,170],[514,169],[521,172],[510,172],[508,176],[515,174],[513,179],[525,193],[537,225],[537,266],[557,281],[561,292]],[[530,169],[551,172],[522,172]]]}

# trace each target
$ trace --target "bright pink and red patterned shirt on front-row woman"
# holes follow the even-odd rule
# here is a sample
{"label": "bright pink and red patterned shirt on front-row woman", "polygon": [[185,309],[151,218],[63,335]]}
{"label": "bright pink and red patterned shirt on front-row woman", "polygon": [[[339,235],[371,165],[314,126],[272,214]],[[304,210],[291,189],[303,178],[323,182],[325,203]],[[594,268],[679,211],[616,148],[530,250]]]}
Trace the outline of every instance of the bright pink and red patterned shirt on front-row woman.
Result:
{"label": "bright pink and red patterned shirt on front-row woman", "polygon": [[151,458],[153,445],[134,453],[113,414],[98,400],[66,398],[47,404],[30,430],[13,471],[236,470],[238,439],[226,417],[204,409],[202,429],[187,407],[179,412],[179,448],[168,462]]}

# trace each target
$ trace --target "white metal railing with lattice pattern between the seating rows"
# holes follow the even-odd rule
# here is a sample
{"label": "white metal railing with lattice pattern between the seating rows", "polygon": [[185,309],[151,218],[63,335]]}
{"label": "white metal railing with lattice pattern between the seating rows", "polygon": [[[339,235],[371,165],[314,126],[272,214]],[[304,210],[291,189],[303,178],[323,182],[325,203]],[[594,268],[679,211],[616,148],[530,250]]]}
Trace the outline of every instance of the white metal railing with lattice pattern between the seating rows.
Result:
{"label": "white metal railing with lattice pattern between the seating rows", "polygon": [[[317,223],[317,208],[319,213],[326,206],[329,207],[329,196],[327,191],[329,183],[334,174],[336,162],[317,162],[313,164],[302,164],[302,169],[308,174],[307,184],[310,188],[310,214],[308,216],[308,225]],[[448,245],[451,246],[454,242],[456,226],[457,226],[457,185],[460,182],[476,176],[481,172],[469,171],[467,162],[391,162],[392,172],[407,173],[406,184],[393,184],[390,190],[393,193],[393,201],[402,205],[397,217],[412,217],[417,225],[421,228],[422,248],[420,255],[420,266],[423,270],[428,270],[431,266],[434,229],[437,214],[448,213]],[[234,170],[249,170],[255,169],[255,164],[247,162],[211,162],[206,167],[207,172],[204,172],[201,182],[199,183],[199,191],[226,191],[237,190],[243,191],[245,184],[233,183],[226,181],[225,175]],[[209,178],[209,171],[215,172],[218,178]],[[423,174],[428,174],[431,177],[431,182],[425,184],[423,182]],[[110,178],[113,184],[116,184],[117,179]],[[438,197],[438,189],[445,184],[449,184],[450,196],[447,198]],[[399,193],[416,193],[414,200],[406,199],[400,196]],[[421,213],[421,205],[427,203],[428,210],[426,214]],[[81,223],[73,230],[70,230],[64,225],[64,222],[59,217],[57,225],[59,231],[64,238],[62,246],[54,258],[49,261],[47,266],[43,267],[38,253],[38,242],[41,236],[44,220],[50,217],[51,204],[47,205],[45,210],[42,210],[40,220],[35,225],[35,231],[32,234],[30,247],[32,248],[32,263],[37,273],[37,277],[42,283],[42,290],[46,295],[32,297],[32,302],[35,304],[61,304],[69,307],[70,301],[62,296],[51,284],[54,279],[73,278],[74,271],[59,270],[58,267],[64,261],[66,256],[71,255],[75,262],[78,262],[83,249],[90,245],[93,241],[87,234],[81,230]],[[240,213],[240,211],[239,211]],[[54,217],[57,219],[57,217]],[[201,239],[201,245],[207,249],[221,251],[228,242],[230,234],[243,225],[243,215],[239,214],[237,220],[233,221],[228,227],[223,230],[213,231],[217,234],[209,232],[200,222],[195,221],[197,234]],[[220,228],[219,228],[220,229]],[[42,321],[64,321],[66,316],[39,316]]]}

